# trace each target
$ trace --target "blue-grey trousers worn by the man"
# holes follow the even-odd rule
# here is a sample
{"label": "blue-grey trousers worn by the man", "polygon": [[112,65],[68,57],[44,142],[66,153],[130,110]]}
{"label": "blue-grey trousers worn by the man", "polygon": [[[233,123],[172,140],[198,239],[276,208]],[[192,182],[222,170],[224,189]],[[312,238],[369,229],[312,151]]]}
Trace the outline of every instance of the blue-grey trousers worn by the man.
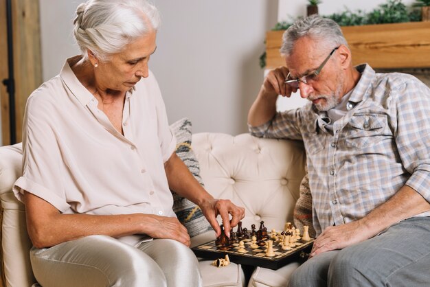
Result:
{"label": "blue-grey trousers worn by the man", "polygon": [[430,286],[430,218],[409,218],[380,235],[321,253],[299,266],[291,287]]}

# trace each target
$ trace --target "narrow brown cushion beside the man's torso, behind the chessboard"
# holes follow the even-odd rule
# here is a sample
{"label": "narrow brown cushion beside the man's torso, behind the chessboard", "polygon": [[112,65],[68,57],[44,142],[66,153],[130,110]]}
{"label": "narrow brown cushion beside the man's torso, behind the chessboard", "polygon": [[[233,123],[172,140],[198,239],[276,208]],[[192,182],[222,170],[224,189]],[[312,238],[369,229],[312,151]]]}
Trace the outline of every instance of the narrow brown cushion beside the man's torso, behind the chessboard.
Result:
{"label": "narrow brown cushion beside the man's torso, behind the chessboard", "polygon": [[315,229],[312,223],[312,194],[310,194],[308,170],[300,183],[300,196],[294,207],[294,225],[303,232],[303,226],[308,225],[309,236],[315,238]]}

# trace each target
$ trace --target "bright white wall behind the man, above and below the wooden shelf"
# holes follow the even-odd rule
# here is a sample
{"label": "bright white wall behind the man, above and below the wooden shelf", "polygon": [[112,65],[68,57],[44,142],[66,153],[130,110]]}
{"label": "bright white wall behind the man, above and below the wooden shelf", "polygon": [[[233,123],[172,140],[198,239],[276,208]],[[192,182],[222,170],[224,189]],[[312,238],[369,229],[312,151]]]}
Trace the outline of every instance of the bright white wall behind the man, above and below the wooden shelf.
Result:
{"label": "bright white wall behind the man, above and below the wooden shelf", "polygon": [[[410,6],[415,0],[403,0],[405,5]],[[279,0],[278,21],[291,22],[299,16],[306,16],[307,0]],[[352,12],[363,10],[364,12],[371,12],[376,9],[378,5],[387,3],[387,0],[360,0],[360,1],[346,1],[346,0],[323,0],[318,5],[320,15],[329,15],[333,13],[340,13],[347,9]],[[290,108],[296,108],[305,104],[307,100],[303,100],[299,93],[291,95],[290,98],[280,97],[278,100],[278,111],[284,111]]]}

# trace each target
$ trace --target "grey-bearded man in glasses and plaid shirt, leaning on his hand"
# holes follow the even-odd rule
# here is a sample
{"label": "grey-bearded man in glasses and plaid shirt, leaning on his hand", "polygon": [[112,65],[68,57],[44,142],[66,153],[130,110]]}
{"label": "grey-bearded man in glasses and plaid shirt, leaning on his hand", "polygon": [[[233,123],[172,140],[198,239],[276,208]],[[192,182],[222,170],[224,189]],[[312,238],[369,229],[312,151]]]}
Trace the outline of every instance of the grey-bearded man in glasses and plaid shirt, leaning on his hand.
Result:
{"label": "grey-bearded man in glasses and plaid shirt, leaning on his hand", "polygon": [[[306,148],[317,239],[290,286],[429,286],[430,89],[352,67],[339,25],[318,16],[289,27],[281,52],[248,122]],[[295,91],[310,103],[277,113]]]}

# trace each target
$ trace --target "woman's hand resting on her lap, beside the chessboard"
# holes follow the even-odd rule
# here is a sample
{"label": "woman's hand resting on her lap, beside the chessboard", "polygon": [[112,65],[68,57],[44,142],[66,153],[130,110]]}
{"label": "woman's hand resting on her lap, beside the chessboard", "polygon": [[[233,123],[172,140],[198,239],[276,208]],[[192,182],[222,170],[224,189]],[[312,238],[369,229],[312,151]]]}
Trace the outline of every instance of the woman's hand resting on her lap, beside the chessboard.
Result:
{"label": "woman's hand resting on her lap, beside the chessboard", "polygon": [[146,214],[145,230],[152,238],[164,238],[177,240],[186,246],[190,246],[190,236],[187,229],[174,217],[156,216]]}

